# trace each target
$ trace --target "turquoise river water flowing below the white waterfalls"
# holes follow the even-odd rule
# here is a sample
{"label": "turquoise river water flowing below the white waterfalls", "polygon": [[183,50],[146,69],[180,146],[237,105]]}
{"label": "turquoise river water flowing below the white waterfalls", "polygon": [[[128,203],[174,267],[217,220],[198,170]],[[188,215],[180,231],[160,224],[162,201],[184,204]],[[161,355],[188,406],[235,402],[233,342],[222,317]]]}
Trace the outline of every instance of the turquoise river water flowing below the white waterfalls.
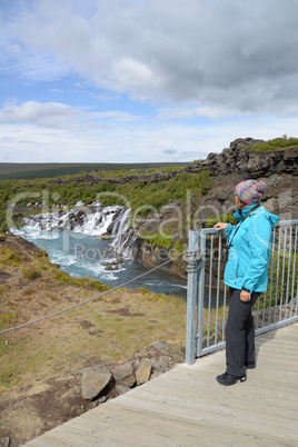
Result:
{"label": "turquoise river water flowing below the white waterfalls", "polygon": [[[102,264],[110,262],[116,257],[111,251],[110,242],[98,236],[38,230],[32,227],[24,227],[18,234],[44,249],[52,262],[59,264],[61,270],[76,278],[95,278],[107,286],[116,287],[151,269],[130,259],[122,259],[123,264],[118,270],[106,270]],[[148,276],[126,287],[130,289],[146,287],[151,291],[175,295],[182,299],[187,296],[186,280],[162,270],[149,272]]]}

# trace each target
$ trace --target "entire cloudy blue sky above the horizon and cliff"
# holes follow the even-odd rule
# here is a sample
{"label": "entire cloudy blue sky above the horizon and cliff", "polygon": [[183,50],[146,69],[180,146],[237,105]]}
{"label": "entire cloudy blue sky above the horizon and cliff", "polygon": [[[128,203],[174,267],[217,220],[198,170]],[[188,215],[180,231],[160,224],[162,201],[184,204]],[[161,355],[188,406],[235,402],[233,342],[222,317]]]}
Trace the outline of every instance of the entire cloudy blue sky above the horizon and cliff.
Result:
{"label": "entire cloudy blue sky above the horizon and cliff", "polygon": [[298,137],[298,0],[0,0],[0,162]]}

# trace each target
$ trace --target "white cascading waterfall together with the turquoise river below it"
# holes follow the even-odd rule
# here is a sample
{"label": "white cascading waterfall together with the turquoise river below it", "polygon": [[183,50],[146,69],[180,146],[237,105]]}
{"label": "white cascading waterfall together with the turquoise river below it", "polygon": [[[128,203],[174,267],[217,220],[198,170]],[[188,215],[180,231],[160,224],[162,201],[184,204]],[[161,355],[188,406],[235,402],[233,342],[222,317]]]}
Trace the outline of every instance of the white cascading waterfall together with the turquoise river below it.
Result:
{"label": "white cascading waterfall together with the turquoise river below it", "polygon": [[[52,262],[69,275],[119,286],[149,269],[133,260],[137,235],[129,229],[130,217],[131,210],[122,206],[77,203],[71,210],[54,208],[52,212],[24,218],[26,227],[13,232],[44,249]],[[111,240],[106,240],[103,235]],[[130,287],[143,286],[156,292],[186,296],[185,280],[158,270]]]}

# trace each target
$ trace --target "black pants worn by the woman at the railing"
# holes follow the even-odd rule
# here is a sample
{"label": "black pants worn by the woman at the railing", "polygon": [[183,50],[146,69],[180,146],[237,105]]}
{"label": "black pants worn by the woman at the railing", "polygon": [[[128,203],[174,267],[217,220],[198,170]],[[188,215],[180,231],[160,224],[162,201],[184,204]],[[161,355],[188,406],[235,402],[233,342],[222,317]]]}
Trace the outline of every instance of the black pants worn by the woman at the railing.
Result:
{"label": "black pants worn by the woman at the railing", "polygon": [[250,301],[240,300],[241,290],[230,288],[230,307],[226,326],[227,372],[242,376],[245,365],[255,362],[255,327],[251,308],[259,298],[252,292]]}

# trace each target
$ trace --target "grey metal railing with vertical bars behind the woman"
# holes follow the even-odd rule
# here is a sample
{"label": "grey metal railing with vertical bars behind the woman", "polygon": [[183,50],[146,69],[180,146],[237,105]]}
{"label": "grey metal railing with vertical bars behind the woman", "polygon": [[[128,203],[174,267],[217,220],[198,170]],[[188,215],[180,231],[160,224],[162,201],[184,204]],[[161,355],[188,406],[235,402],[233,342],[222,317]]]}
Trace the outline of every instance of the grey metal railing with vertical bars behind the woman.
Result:
{"label": "grey metal railing with vertical bars behind the woman", "polygon": [[[268,289],[252,308],[256,335],[298,321],[298,220],[278,222],[272,231]],[[226,346],[229,290],[224,285],[222,231],[189,231],[186,362]]]}

